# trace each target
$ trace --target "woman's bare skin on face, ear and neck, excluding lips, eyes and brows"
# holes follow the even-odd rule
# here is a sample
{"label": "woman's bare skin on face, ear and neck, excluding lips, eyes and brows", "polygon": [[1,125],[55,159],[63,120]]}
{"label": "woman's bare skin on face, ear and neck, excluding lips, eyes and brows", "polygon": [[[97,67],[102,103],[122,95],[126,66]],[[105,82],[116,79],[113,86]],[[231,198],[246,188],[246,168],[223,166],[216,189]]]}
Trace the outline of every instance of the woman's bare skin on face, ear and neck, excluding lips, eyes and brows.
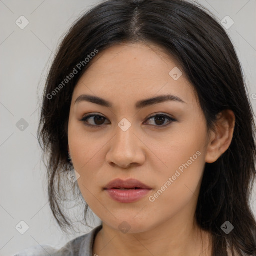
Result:
{"label": "woman's bare skin on face, ear and neck, excluding lips, eyes and brows", "polygon": [[[195,219],[205,162],[212,163],[231,143],[235,116],[219,114],[216,132],[206,120],[185,74],[174,80],[169,72],[177,62],[154,44],[126,43],[99,52],[74,88],[68,123],[68,150],[84,200],[102,220],[93,255],[211,255],[210,234]],[[113,108],[81,101],[89,94],[110,101]],[[173,94],[185,103],[166,101],[137,110],[139,100]],[[81,119],[88,114],[105,117]],[[176,121],[162,122],[150,114]],[[125,132],[118,123],[126,118]],[[158,124],[158,126],[157,126]],[[167,125],[169,124],[169,125]],[[164,126],[167,125],[167,126]],[[200,155],[153,202],[153,196],[190,157]],[[152,190],[132,203],[114,201],[103,187],[115,178],[135,178]],[[126,221],[124,233],[118,227]],[[202,243],[203,242],[203,243]]]}

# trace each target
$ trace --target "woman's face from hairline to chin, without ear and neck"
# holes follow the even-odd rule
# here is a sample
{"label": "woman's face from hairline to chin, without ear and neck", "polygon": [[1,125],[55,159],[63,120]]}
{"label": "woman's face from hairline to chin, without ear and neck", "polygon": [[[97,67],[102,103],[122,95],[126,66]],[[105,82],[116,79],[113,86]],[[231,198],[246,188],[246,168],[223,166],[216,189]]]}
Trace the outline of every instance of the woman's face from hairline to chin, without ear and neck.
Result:
{"label": "woman's face from hairline to chin, without ear and neck", "polygon": [[[209,137],[185,75],[153,44],[112,46],[90,61],[73,91],[68,123],[84,200],[106,225],[130,233],[191,219]],[[151,100],[166,95],[172,96]],[[88,115],[96,116],[81,120]],[[104,189],[116,178],[150,189]]]}

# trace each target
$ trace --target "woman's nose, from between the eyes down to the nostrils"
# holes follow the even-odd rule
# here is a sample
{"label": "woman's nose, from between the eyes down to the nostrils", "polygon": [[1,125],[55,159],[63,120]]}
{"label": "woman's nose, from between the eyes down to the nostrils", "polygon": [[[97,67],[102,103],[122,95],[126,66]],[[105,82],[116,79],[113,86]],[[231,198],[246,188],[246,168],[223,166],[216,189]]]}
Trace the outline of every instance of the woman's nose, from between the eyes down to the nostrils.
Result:
{"label": "woman's nose, from between the eyes down to the nostrils", "polygon": [[110,141],[106,161],[111,166],[129,168],[132,165],[142,165],[145,161],[146,146],[134,133],[132,125],[126,131],[117,126],[116,134]]}

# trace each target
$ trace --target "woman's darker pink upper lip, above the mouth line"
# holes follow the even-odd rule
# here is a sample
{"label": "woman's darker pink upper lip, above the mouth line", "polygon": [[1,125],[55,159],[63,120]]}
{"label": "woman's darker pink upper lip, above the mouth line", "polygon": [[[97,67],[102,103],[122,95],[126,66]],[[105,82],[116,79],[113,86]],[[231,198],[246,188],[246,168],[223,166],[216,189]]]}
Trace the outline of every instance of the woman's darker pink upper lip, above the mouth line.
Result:
{"label": "woman's darker pink upper lip, above the mouth line", "polygon": [[127,180],[122,180],[122,179],[114,179],[112,181],[110,181],[105,187],[104,189],[111,189],[111,188],[145,188],[145,189],[152,189],[151,187],[143,184],[142,182],[140,182],[137,179],[127,179]]}

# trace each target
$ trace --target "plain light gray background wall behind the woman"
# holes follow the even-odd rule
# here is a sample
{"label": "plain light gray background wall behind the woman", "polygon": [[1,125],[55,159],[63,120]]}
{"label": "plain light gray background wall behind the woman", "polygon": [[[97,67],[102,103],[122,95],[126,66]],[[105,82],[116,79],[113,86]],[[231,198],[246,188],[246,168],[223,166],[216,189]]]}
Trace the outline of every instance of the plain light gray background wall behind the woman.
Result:
{"label": "plain light gray background wall behind the woman", "polygon": [[[41,98],[60,37],[83,11],[99,2],[0,0],[0,255],[37,244],[60,247],[83,234],[62,234],[50,212],[46,169],[36,139],[38,95]],[[234,21],[226,31],[241,61],[255,111],[256,0],[197,2],[208,8],[219,22],[226,15]],[[15,24],[21,15],[29,21],[24,29]],[[16,127],[21,118],[28,123],[23,131]],[[256,214],[255,192],[251,205]],[[29,226],[24,234],[15,229],[21,220]],[[83,230],[87,232],[90,228]]]}

